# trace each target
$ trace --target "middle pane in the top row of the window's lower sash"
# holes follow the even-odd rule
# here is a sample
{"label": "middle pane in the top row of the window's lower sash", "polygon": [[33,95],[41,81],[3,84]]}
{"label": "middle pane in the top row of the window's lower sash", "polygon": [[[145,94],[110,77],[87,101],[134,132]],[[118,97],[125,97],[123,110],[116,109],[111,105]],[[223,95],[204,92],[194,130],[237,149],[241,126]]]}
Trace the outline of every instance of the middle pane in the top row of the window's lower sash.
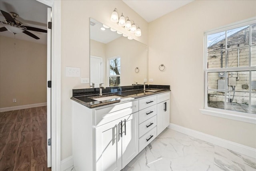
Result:
{"label": "middle pane in the top row of the window's lower sash", "polygon": [[248,71],[228,72],[228,90],[249,91],[249,79]]}

